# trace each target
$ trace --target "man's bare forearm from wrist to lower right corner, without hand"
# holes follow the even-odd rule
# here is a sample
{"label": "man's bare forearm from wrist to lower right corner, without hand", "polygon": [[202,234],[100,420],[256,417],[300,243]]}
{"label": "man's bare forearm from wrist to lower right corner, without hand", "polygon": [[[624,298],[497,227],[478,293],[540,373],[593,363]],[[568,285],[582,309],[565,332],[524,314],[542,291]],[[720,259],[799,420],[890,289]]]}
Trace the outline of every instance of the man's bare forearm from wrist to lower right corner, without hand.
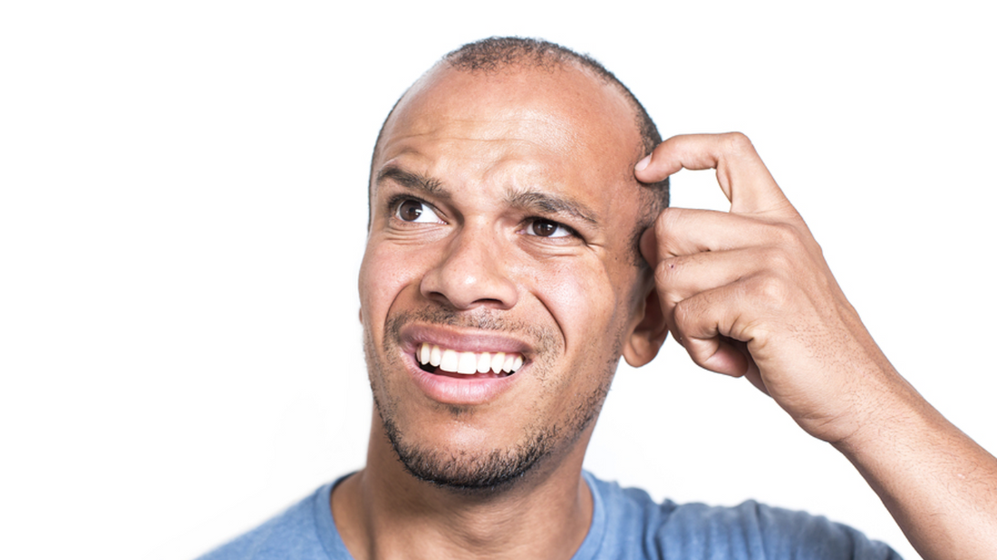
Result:
{"label": "man's bare forearm from wrist to lower right corner, without hand", "polygon": [[997,557],[997,458],[889,377],[892,391],[835,447],[925,560]]}

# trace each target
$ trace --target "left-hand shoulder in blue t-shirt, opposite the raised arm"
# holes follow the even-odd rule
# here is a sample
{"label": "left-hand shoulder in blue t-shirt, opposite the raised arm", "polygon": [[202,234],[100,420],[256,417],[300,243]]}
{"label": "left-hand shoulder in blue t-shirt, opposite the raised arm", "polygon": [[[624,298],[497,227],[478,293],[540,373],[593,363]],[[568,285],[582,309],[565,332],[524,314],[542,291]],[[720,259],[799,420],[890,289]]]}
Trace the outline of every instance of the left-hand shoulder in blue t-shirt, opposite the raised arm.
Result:
{"label": "left-hand shoulder in blue t-shirt, opposite the raised arm", "polygon": [[[208,552],[198,560],[330,560],[336,558],[327,551],[321,517],[323,504],[328,503],[332,484],[318,488],[313,494],[244,533]],[[324,499],[323,499],[324,497]],[[328,506],[324,506],[328,511]],[[331,521],[331,513],[329,513]]]}

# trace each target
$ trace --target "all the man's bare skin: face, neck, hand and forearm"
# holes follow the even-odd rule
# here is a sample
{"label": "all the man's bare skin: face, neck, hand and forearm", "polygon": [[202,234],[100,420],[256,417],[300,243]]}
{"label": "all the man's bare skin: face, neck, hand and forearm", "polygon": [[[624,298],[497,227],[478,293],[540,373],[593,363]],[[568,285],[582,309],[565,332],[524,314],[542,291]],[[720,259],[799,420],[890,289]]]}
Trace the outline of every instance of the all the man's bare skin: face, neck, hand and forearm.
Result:
{"label": "all the man's bare skin: face, neck, hand and forearm", "polygon": [[[630,108],[573,67],[437,68],[400,104],[375,176],[402,168],[443,190],[413,192],[391,177],[372,185],[360,293],[375,398],[404,440],[454,457],[557,429],[525,476],[469,493],[410,475],[375,414],[367,467],[332,496],[351,553],[569,558],[592,507],[580,477],[592,422],[572,433],[578,411],[601,399],[620,355],[644,365],[671,332],[694,362],[748,378],[842,452],[925,559],[997,555],[997,459],[890,366],[751,142],[683,136],[634,166],[642,155]],[[682,168],[716,169],[731,211],[661,212],[640,241],[652,276],[630,256],[644,219],[637,181]],[[576,202],[594,224],[512,203],[524,189]],[[387,201],[399,191],[418,194],[439,219],[398,219]],[[536,218],[580,235],[531,235]],[[441,310],[444,324],[430,324]],[[494,334],[482,321],[498,321],[527,364],[484,402],[434,399],[407,370],[405,327],[389,328],[413,313],[423,315],[406,325],[429,329],[419,336],[448,341],[481,340]]]}

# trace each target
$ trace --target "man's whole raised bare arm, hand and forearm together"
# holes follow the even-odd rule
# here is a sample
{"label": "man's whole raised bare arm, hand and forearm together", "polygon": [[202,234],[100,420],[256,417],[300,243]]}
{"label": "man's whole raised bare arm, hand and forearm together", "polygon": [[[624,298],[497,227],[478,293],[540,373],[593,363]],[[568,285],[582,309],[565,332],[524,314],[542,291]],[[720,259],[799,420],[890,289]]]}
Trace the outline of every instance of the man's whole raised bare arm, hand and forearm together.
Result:
{"label": "man's whole raised bare arm, hand and forearm together", "polygon": [[644,234],[668,332],[841,451],[926,560],[997,557],[997,459],[892,368],[751,142],[675,137],[635,173],[683,167],[715,168],[731,211],[667,208]]}

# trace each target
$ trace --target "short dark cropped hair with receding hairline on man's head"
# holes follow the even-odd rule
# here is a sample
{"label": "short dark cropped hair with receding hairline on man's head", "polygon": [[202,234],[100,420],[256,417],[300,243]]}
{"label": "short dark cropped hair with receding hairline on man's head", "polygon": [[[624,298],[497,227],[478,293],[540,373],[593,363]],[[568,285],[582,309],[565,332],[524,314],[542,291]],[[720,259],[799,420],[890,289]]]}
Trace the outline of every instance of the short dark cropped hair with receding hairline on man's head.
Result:
{"label": "short dark cropped hair with receding hairline on man's head", "polygon": [[[510,67],[540,68],[552,71],[571,63],[589,70],[605,83],[614,86],[630,102],[630,106],[633,108],[637,119],[637,128],[640,131],[640,138],[645,154],[650,153],[656,145],[661,143],[661,135],[658,133],[658,127],[655,126],[654,121],[651,120],[644,106],[637,101],[633,93],[612,72],[606,70],[604,66],[592,57],[576,53],[556,43],[523,37],[489,37],[488,39],[468,43],[459,49],[451,51],[434,68],[440,65],[447,65],[450,68],[463,72],[493,74]],[[406,91],[406,94],[408,94],[408,91]],[[371,155],[371,171],[367,183],[368,189],[371,188],[371,182],[374,180],[374,160],[377,158],[381,140],[384,137],[385,127],[403,99],[405,99],[405,94],[395,102],[395,106],[388,113],[388,117],[385,118],[384,123],[381,125],[381,131],[377,135],[377,141],[374,143],[374,153]],[[646,187],[656,194],[653,197],[653,201],[650,204],[651,208],[648,212],[648,215],[653,219],[662,208],[668,206],[668,178],[666,177],[660,182],[647,184]],[[370,192],[368,192],[368,200],[370,200]]]}

